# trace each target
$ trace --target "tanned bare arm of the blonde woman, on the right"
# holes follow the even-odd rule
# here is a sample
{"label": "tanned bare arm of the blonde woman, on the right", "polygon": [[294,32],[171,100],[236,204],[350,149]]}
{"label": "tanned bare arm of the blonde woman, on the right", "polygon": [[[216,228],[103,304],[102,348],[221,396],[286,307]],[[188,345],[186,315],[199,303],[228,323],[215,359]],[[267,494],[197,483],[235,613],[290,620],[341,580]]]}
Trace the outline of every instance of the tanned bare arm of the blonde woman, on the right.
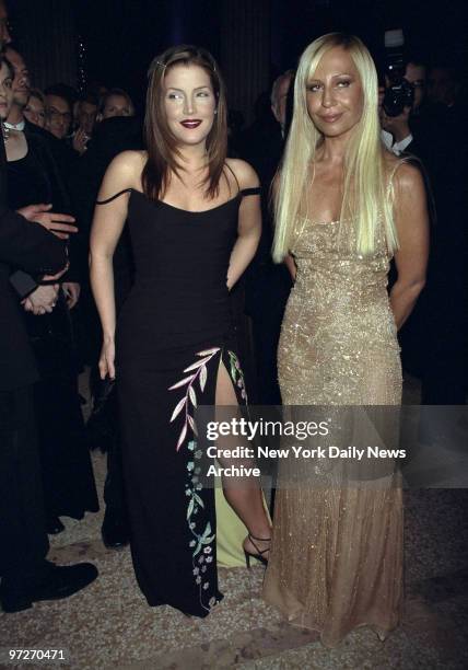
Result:
{"label": "tanned bare arm of the blonde woman, on the right", "polygon": [[411,314],[425,284],[429,256],[428,198],[418,168],[403,163],[396,174],[395,219],[399,249],[395,254],[398,279],[390,304],[399,330]]}

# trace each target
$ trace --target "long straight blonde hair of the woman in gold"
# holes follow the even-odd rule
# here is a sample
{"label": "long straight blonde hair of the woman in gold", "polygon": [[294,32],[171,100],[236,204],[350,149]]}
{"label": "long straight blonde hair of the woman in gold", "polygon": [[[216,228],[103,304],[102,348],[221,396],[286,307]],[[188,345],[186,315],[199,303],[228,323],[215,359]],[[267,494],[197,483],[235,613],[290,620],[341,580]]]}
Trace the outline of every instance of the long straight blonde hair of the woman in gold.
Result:
{"label": "long straight blonde hair of the woman in gold", "polygon": [[308,168],[314,163],[317,147],[323,139],[323,135],[307,112],[307,83],[314,76],[320,58],[334,47],[341,47],[350,53],[364,94],[363,112],[348,143],[344,158],[344,188],[340,219],[354,221],[356,251],[361,254],[370,254],[375,250],[381,217],[388,250],[393,252],[398,247],[393,215],[393,188],[387,184],[385,150],[381,140],[375,65],[359,37],[329,33],[309,44],[299,62],[294,84],[293,119],[274,197],[273,259],[277,263],[281,263],[290,251],[301,201],[309,186]]}

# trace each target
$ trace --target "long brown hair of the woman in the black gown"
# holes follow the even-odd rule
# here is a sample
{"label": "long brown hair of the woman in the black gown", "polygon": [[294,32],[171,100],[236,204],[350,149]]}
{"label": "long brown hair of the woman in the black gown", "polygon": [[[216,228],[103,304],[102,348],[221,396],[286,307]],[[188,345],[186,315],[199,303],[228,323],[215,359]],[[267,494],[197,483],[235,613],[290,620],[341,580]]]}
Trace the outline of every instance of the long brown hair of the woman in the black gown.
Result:
{"label": "long brown hair of the woman in the black gown", "polygon": [[171,172],[179,174],[184,170],[177,158],[180,153],[172,135],[164,107],[164,77],[176,65],[196,65],[208,72],[218,101],[213,126],[207,137],[208,175],[206,194],[214,198],[223,174],[227,151],[227,112],[225,86],[214,58],[206,49],[179,45],[171,47],[156,56],[148,72],[147,109],[144,116],[144,138],[148,160],[143,168],[142,184],[144,194],[155,200],[168,186]]}

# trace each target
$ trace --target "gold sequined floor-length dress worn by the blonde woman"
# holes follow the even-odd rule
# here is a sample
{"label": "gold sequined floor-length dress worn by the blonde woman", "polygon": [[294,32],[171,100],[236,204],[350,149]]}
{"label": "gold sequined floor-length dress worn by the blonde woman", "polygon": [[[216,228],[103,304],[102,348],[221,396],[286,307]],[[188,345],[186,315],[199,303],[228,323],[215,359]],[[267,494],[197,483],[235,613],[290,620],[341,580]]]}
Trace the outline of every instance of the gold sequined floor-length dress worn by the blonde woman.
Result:
{"label": "gold sequined floor-length dress worn by the blonde woman", "polygon": [[[297,276],[278,353],[284,405],[400,404],[390,254],[377,236],[375,253],[363,257],[349,222],[297,221]],[[339,464],[317,472],[315,485],[277,493],[264,598],[327,646],[361,625],[385,636],[402,598],[398,473],[354,487],[343,485]]]}

